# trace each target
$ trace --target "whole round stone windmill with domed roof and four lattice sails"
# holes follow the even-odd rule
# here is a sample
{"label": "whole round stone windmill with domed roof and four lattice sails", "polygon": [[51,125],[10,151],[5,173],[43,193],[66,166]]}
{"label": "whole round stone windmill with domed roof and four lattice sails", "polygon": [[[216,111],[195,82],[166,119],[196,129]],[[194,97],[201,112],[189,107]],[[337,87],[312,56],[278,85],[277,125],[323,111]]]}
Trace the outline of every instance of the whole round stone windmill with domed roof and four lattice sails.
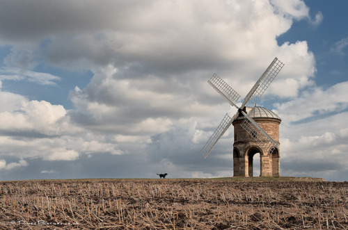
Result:
{"label": "whole round stone windmill with domed roof and four lattice sails", "polygon": [[[244,98],[242,106],[237,106],[240,95],[230,85],[214,74],[208,80],[219,94],[235,106],[235,116],[228,114],[200,151],[204,158],[208,156],[216,142],[230,127],[235,126],[235,143],[233,144],[233,175],[253,176],[253,156],[260,153],[260,176],[279,176],[279,124],[280,117],[267,108],[256,106],[258,99],[277,76],[283,63],[274,58],[260,79]],[[248,106],[247,106],[248,105]]]}

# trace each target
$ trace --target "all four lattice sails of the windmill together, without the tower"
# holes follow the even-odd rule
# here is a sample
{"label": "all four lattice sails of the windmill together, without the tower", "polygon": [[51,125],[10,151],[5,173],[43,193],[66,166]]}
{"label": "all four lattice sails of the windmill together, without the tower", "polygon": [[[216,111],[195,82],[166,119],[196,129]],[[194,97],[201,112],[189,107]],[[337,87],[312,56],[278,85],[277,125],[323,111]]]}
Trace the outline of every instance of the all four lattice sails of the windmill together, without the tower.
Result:
{"label": "all four lattice sails of the windmill together, without the tower", "polygon": [[[230,117],[228,113],[226,113],[225,117],[214,131],[212,136],[209,138],[203,149],[200,153],[206,158],[216,142],[221,138],[223,133],[230,127],[233,121],[237,120],[238,117],[244,116],[244,120],[241,123],[242,128],[248,132],[255,142],[258,142],[260,146],[262,146],[265,151],[271,155],[274,149],[278,147],[277,143],[271,138],[269,134],[261,128],[261,126],[253,120],[252,117],[249,117],[246,112],[246,106],[255,107],[258,99],[262,96],[265,90],[269,87],[271,82],[277,76],[280,69],[282,69],[284,64],[278,60],[278,58],[274,58],[269,67],[264,71],[264,73],[260,76],[260,79],[255,83],[253,88],[248,92],[242,106],[237,106],[237,101],[240,98],[240,95],[233,90],[230,85],[228,85],[223,79],[221,79],[217,74],[214,74],[211,79],[207,82],[209,85],[212,85],[219,94],[228,101],[231,106],[235,106],[238,110],[237,113]],[[257,133],[257,135],[256,135]]]}

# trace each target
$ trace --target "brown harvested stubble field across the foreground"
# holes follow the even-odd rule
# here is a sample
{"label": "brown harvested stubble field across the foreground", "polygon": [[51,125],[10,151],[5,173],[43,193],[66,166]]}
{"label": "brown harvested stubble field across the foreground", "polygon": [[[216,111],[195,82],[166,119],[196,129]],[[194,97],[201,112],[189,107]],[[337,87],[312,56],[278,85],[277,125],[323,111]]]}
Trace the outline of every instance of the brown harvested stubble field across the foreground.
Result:
{"label": "brown harvested stubble field across the foreground", "polygon": [[348,182],[0,182],[1,229],[348,229]]}

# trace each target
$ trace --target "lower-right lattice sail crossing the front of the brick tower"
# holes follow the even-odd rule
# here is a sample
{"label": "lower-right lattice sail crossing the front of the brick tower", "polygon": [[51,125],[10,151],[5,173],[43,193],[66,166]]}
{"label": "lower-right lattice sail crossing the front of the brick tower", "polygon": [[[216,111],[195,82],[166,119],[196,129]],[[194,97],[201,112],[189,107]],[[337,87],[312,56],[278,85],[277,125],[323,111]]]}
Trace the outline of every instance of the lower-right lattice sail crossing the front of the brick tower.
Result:
{"label": "lower-right lattice sail crossing the front of the brick tower", "polygon": [[274,149],[278,146],[277,143],[256,123],[251,117],[244,115],[244,120],[241,124],[242,128],[251,135],[251,137],[258,142],[269,155],[272,154]]}

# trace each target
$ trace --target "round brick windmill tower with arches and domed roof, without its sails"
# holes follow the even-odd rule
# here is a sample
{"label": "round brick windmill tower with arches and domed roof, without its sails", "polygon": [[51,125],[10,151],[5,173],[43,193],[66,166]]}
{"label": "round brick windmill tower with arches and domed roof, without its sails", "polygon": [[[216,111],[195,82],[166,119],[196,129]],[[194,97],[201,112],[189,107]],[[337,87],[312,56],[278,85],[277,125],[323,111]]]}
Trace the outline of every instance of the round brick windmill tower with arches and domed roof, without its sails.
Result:
{"label": "round brick windmill tower with arches and domed roof, without its sails", "polygon": [[280,176],[279,154],[279,124],[280,117],[276,113],[255,106],[247,107],[247,113],[271,136],[278,147],[269,149],[257,142],[257,131],[246,131],[242,127],[244,117],[238,117],[232,124],[235,128],[235,142],[233,144],[233,176],[253,176],[253,157],[260,154],[260,176]]}

